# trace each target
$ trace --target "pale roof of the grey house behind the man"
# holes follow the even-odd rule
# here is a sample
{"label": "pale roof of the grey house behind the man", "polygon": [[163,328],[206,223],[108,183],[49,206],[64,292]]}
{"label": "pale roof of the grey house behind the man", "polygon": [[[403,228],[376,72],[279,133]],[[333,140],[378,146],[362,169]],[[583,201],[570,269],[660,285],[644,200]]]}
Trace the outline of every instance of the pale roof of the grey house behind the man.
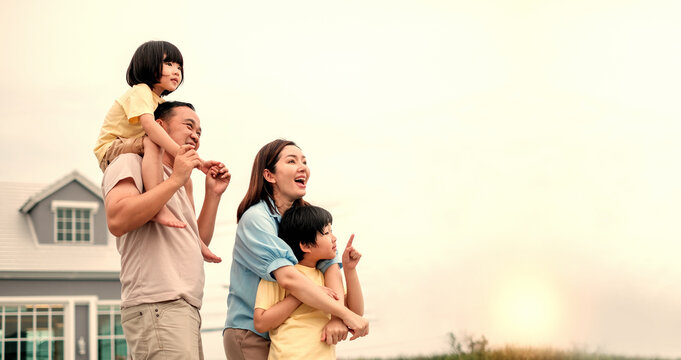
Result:
{"label": "pale roof of the grey house behind the man", "polygon": [[120,257],[116,241],[110,234],[106,245],[41,244],[37,241],[28,213],[73,182],[80,184],[82,191],[92,192],[102,199],[99,187],[77,171],[47,185],[0,182],[0,278],[118,277]]}

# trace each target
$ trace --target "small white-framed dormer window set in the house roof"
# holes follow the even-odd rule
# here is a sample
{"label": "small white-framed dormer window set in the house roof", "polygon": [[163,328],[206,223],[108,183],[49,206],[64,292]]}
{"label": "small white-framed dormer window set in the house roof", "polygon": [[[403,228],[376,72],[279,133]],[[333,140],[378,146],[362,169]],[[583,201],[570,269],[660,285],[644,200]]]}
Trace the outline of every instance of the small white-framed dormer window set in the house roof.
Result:
{"label": "small white-framed dormer window set in the house roof", "polygon": [[52,201],[54,238],[57,243],[92,243],[94,214],[99,204],[86,201]]}

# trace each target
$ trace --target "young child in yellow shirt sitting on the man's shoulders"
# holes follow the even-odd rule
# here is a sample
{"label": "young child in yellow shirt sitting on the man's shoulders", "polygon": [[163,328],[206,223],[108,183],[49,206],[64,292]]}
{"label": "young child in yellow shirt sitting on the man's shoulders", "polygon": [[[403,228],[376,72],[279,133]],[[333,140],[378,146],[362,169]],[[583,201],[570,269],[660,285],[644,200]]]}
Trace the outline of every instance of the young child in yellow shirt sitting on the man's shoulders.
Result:
{"label": "young child in yellow shirt sitting on the man's shoulders", "polygon": [[[126,80],[131,86],[109,109],[94,148],[102,171],[120,154],[136,153],[142,157],[142,181],[146,191],[163,181],[161,160],[163,152],[177,155],[180,148],[161,125],[156,122],[154,110],[163,103],[163,96],[175,91],[184,80],[184,61],[180,50],[167,41],[148,41],[140,45],[130,60]],[[219,176],[224,164],[210,168],[201,161],[201,171],[208,176]],[[185,185],[191,188],[191,179]],[[152,221],[177,228],[187,225],[163,208]],[[202,244],[201,253],[206,261],[219,262],[220,258]]]}

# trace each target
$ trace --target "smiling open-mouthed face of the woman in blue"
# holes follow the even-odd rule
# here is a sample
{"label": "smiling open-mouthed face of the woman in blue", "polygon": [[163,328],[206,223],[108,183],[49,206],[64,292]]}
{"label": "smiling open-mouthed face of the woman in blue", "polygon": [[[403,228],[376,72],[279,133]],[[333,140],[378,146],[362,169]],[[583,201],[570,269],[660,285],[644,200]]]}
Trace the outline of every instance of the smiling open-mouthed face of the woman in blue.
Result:
{"label": "smiling open-mouthed face of the woman in blue", "polygon": [[275,200],[279,197],[285,201],[295,201],[305,196],[310,169],[300,148],[294,145],[286,146],[279,153],[274,171],[274,174],[266,175],[265,179],[272,184]]}

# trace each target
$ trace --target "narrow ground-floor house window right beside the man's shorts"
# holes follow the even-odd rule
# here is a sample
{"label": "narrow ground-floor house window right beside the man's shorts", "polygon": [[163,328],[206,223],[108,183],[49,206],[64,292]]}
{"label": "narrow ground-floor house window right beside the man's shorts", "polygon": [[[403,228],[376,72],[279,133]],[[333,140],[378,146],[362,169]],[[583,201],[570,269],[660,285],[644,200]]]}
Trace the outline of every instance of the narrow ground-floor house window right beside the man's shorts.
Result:
{"label": "narrow ground-floor house window right beside the man's shorts", "polygon": [[125,360],[127,357],[119,305],[97,306],[97,347],[100,360]]}

